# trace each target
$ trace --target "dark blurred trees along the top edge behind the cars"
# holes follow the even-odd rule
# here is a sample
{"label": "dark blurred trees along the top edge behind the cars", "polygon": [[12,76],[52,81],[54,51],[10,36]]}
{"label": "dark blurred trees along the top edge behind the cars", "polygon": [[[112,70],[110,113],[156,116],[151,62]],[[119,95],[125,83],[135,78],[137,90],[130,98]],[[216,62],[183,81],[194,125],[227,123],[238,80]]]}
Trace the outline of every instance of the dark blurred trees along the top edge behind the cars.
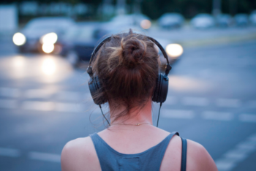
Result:
{"label": "dark blurred trees along the top edge behind the cars", "polygon": [[[51,2],[67,2],[70,4],[78,4],[83,2],[89,4],[91,13],[97,15],[97,8],[104,0],[1,0],[0,4],[11,4],[22,1],[37,1],[39,3],[49,4]],[[117,0],[113,0],[112,4],[116,5]],[[213,0],[126,0],[127,12],[140,11],[148,15],[151,19],[157,19],[165,12],[180,12],[186,18],[192,18],[197,13],[211,13]],[[222,12],[235,15],[236,13],[249,13],[256,9],[256,0],[222,0]]]}

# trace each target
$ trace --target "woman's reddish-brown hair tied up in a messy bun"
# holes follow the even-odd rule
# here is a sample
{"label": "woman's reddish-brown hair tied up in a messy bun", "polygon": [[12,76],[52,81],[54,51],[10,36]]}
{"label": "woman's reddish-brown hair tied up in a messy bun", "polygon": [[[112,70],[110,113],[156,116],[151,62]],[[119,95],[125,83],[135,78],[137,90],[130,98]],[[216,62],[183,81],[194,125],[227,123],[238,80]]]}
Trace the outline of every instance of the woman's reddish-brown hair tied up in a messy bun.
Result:
{"label": "woman's reddish-brown hair tied up in a messy bun", "polygon": [[[142,34],[112,35],[97,52],[93,64],[94,75],[99,77],[102,94],[111,109],[124,106],[114,115],[115,120],[127,115],[135,107],[143,107],[152,97],[159,72],[159,56],[154,43]],[[111,115],[113,116],[113,115]]]}

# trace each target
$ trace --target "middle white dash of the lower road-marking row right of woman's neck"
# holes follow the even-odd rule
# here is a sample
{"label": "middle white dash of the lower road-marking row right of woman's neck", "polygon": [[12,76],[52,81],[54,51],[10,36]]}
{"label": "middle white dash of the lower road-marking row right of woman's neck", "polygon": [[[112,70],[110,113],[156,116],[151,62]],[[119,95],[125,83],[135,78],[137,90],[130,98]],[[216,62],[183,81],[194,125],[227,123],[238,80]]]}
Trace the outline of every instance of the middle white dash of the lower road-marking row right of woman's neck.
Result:
{"label": "middle white dash of the lower road-marking row right of woman's neck", "polygon": [[222,113],[222,112],[214,112],[214,111],[204,111],[202,113],[202,117],[204,119],[221,120],[221,121],[230,121],[234,118],[233,113]]}

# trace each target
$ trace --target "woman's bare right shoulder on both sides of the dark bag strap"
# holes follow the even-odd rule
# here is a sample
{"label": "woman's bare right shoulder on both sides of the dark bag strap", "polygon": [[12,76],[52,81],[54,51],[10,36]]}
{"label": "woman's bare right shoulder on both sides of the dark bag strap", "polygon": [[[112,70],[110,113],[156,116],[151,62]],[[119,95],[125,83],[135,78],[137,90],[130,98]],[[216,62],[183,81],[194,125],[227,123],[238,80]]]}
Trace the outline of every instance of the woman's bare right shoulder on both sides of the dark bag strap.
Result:
{"label": "woman's bare right shoulder on both sides of the dark bag strap", "polygon": [[[161,170],[169,170],[170,166],[173,170],[181,170],[181,149],[181,137],[174,135],[166,149]],[[189,170],[217,171],[216,164],[206,148],[192,140],[187,140],[187,171]]]}

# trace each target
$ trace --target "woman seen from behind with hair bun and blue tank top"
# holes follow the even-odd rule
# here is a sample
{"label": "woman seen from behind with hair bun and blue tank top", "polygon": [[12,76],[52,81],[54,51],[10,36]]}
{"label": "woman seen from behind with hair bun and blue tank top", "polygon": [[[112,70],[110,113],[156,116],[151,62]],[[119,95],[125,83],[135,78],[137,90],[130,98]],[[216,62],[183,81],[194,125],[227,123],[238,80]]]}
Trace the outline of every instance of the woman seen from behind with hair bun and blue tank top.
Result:
{"label": "woman seen from behind with hair bun and blue tank top", "polygon": [[[102,93],[94,98],[108,101],[110,126],[68,142],[61,153],[62,170],[181,170],[181,137],[152,123],[159,75],[154,43],[130,30],[113,35],[96,57],[93,71]],[[189,170],[217,170],[206,149],[192,140],[187,140]]]}

